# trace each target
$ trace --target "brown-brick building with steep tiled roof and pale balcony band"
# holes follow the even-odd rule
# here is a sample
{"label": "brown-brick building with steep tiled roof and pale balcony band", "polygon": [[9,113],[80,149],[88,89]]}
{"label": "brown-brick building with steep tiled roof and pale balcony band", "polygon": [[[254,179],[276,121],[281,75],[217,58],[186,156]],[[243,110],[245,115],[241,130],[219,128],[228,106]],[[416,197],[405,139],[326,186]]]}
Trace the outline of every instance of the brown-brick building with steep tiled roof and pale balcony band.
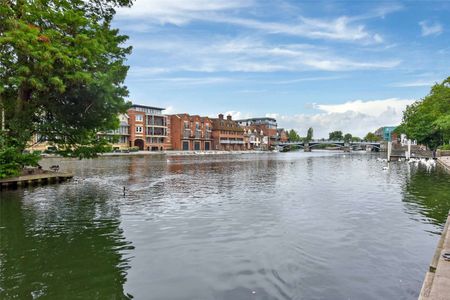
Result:
{"label": "brown-brick building with steep tiled roof and pale balcony band", "polygon": [[231,116],[224,119],[220,114],[212,123],[214,150],[245,150],[244,129]]}

